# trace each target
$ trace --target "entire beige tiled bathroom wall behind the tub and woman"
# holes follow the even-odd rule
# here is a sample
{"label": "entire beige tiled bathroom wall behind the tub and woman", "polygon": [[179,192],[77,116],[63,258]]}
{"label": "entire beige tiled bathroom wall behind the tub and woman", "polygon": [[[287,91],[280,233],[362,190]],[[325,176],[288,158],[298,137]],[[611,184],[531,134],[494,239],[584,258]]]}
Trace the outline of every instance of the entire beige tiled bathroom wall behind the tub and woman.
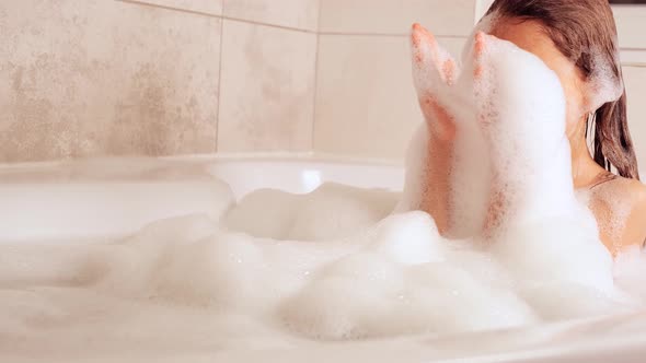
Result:
{"label": "entire beige tiled bathroom wall behind the tub and woman", "polygon": [[[313,152],[399,163],[422,119],[411,23],[458,54],[491,1],[1,1],[0,162]],[[646,165],[646,9],[615,12]]]}

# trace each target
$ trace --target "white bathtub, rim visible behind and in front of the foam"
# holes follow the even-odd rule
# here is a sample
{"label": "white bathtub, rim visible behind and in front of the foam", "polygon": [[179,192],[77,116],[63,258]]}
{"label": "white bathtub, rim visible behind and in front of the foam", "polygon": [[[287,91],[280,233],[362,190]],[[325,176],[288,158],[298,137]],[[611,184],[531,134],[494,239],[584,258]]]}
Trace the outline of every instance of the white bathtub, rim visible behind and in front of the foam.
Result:
{"label": "white bathtub, rim visible behind and in front of the foam", "polygon": [[[230,185],[240,200],[259,188],[309,192],[335,182],[401,190],[401,165],[310,157],[175,157],[0,167],[1,242],[103,241],[191,213],[218,215],[211,196]],[[180,192],[178,192],[180,190]],[[440,347],[440,348],[438,348]],[[471,362],[643,362],[646,312],[447,338],[415,338],[228,352],[226,361],[451,361],[457,347]],[[198,356],[197,356],[198,358]],[[196,358],[196,359],[197,359]],[[198,359],[199,360],[199,359]]]}

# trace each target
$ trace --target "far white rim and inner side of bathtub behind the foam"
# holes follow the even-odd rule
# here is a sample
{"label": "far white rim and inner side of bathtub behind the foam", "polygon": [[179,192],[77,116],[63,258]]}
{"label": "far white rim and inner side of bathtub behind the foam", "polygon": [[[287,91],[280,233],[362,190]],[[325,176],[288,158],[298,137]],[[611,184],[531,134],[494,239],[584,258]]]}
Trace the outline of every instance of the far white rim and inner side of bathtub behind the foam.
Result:
{"label": "far white rim and inner side of bathtub behind the foam", "polygon": [[401,190],[403,173],[402,166],[388,163],[302,157],[113,159],[4,165],[0,166],[0,241],[104,237],[131,233],[165,218],[218,215],[220,206],[214,207],[210,199],[218,191],[212,178],[227,183],[240,200],[261,188],[304,194],[327,182]]}

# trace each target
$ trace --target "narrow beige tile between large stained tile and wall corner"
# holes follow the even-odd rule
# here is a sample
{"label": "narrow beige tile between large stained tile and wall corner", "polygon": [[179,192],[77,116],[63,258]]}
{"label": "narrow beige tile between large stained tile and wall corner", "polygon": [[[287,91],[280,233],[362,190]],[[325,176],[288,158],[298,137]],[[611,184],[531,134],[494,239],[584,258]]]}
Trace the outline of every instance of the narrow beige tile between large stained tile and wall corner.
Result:
{"label": "narrow beige tile between large stained tile and wall corner", "polygon": [[218,151],[310,151],[316,35],[224,20],[222,36]]}

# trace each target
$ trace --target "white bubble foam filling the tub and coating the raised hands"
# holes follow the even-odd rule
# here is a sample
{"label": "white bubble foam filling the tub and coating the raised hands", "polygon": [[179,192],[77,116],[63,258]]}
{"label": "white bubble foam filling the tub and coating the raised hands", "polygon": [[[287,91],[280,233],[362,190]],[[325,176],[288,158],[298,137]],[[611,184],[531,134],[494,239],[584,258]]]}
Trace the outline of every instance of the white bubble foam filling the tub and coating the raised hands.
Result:
{"label": "white bubble foam filling the tub and coating the raised hands", "polygon": [[[420,99],[432,95],[458,128],[449,191],[457,238],[414,210],[431,179],[429,114],[403,195],[330,184],[231,202],[224,189],[221,215],[162,220],[103,243],[0,245],[0,353],[154,359],[642,309],[646,255],[613,261],[573,189],[556,77],[486,35],[474,35],[447,73],[438,65],[450,55],[429,39],[414,43],[415,80]],[[505,199],[487,225],[492,190]]]}

